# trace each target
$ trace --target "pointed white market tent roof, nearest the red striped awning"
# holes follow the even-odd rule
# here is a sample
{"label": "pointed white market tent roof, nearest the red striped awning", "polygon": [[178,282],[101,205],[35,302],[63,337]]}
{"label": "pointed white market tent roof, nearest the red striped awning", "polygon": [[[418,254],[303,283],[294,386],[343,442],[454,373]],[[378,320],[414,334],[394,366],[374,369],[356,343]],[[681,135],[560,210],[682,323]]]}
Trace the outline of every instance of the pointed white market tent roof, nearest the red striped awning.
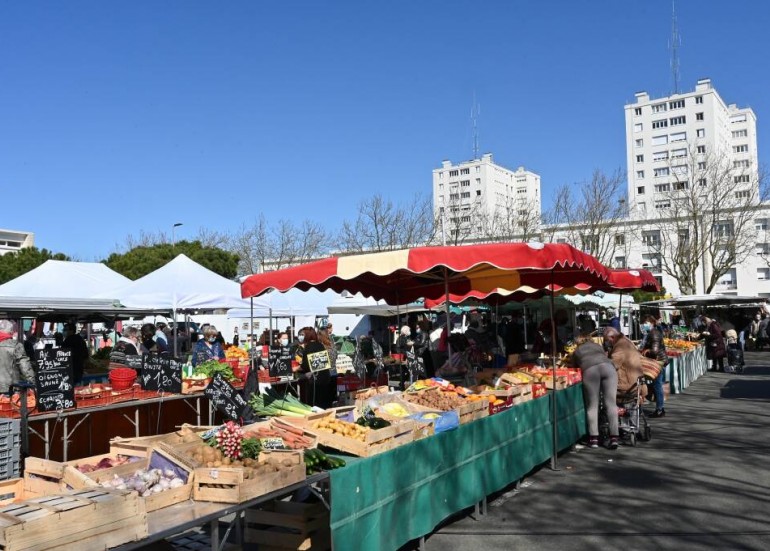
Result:
{"label": "pointed white market tent roof, nearest the red striped awning", "polygon": [[241,286],[180,254],[165,266],[127,285],[101,293],[130,308],[168,311],[218,310],[248,307]]}

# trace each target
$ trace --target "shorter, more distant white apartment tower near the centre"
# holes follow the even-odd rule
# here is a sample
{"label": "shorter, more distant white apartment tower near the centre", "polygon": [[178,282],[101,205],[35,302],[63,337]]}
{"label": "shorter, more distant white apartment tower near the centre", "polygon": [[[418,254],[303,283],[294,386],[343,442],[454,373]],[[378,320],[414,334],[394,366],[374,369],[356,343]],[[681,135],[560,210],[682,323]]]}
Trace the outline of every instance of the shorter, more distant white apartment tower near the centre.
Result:
{"label": "shorter, more distant white apartment tower near the centre", "polygon": [[496,164],[492,154],[459,164],[443,161],[433,170],[433,212],[448,239],[484,238],[540,224],[540,176]]}

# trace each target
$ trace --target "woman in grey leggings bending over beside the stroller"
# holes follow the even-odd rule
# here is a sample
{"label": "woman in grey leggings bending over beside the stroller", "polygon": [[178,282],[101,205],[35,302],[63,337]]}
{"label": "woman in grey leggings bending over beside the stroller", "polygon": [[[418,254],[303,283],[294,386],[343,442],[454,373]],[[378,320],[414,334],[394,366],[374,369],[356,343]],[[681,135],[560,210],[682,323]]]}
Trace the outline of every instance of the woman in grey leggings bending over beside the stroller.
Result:
{"label": "woman in grey leggings bending over beside the stroller", "polygon": [[618,407],[615,396],[618,393],[618,373],[614,364],[604,353],[601,345],[590,339],[578,345],[572,354],[573,363],[583,372],[583,400],[586,405],[588,424],[588,445],[599,447],[599,393],[604,393],[604,409],[610,422],[608,447],[618,447]]}

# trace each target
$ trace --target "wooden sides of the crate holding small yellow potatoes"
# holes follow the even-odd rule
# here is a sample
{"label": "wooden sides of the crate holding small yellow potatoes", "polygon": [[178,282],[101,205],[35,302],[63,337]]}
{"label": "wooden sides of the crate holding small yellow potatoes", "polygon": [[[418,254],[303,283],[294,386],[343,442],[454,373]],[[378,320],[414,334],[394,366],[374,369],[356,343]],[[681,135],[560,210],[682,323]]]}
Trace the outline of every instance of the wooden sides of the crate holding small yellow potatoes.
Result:
{"label": "wooden sides of the crate holding small yellow potatoes", "polygon": [[414,441],[415,423],[411,420],[394,423],[389,427],[381,429],[370,430],[366,433],[363,441],[351,438],[350,436],[313,428],[313,425],[318,421],[335,417],[336,412],[334,410],[327,410],[306,417],[288,417],[284,420],[303,427],[308,432],[314,434],[318,438],[318,443],[322,446],[357,455],[358,457],[370,457]]}

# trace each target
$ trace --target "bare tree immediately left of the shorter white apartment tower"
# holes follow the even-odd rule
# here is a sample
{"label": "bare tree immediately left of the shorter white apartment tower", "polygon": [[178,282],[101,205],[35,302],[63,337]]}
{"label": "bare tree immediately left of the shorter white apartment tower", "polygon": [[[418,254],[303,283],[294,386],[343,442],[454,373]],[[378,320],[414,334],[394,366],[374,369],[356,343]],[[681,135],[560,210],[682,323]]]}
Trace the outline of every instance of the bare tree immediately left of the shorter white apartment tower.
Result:
{"label": "bare tree immediately left of the shorter white apartment tower", "polygon": [[431,240],[433,217],[430,200],[417,195],[396,205],[377,194],[358,205],[355,220],[345,220],[338,244],[350,252],[392,251]]}

